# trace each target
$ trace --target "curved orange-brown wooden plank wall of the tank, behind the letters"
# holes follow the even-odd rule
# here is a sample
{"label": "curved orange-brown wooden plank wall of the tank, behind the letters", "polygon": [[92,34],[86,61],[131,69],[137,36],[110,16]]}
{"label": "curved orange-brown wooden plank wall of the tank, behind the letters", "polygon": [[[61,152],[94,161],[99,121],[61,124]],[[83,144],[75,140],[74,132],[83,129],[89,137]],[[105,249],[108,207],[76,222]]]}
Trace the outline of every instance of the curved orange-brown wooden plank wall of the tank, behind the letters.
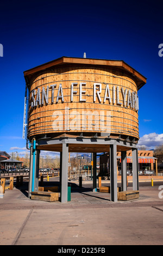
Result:
{"label": "curved orange-brown wooden plank wall of the tank, behind the letters", "polygon": [[[73,60],[73,59],[72,59]],[[68,60],[67,60],[68,61]],[[73,62],[74,63],[74,62]],[[82,63],[82,60],[81,60]],[[124,107],[123,106],[123,97],[120,92],[120,102],[122,105],[117,105],[116,103],[112,103],[112,86],[118,86],[121,90],[123,89],[130,90],[131,92],[137,93],[137,85],[135,82],[135,78],[131,75],[127,74],[127,72],[122,71],[120,69],[106,68],[101,66],[96,67],[94,62],[91,62],[92,66],[69,66],[65,67],[58,66],[55,69],[47,69],[40,70],[35,74],[35,77],[29,81],[30,83],[30,99],[32,96],[32,91],[37,90],[47,86],[51,86],[52,84],[57,84],[57,87],[54,88],[54,103],[51,103],[51,89],[49,89],[49,102],[46,105],[45,103],[41,106],[29,107],[29,125],[28,125],[28,137],[33,137],[37,135],[41,135],[43,133],[58,133],[60,132],[54,130],[53,121],[55,118],[53,114],[55,111],[62,112],[64,114],[65,108],[70,108],[69,113],[72,111],[78,111],[80,113],[79,120],[77,118],[77,127],[76,129],[71,129],[72,118],[70,118],[70,129],[71,132],[85,132],[86,129],[82,127],[82,111],[104,111],[104,121],[106,123],[107,111],[110,112],[110,127],[109,132],[114,134],[122,134],[139,138],[139,121],[138,121],[138,113],[134,108]],[[83,99],[86,99],[86,102],[79,101],[79,84],[80,82],[86,83],[83,86],[83,90],[86,91],[85,94],[82,95]],[[56,102],[57,93],[59,84],[62,84],[62,91],[64,94],[64,102],[61,100]],[[71,84],[78,83],[77,86],[74,86],[74,90],[77,90],[77,94],[73,95],[73,101],[71,102]],[[101,92],[101,100],[98,101],[96,96],[96,102],[93,102],[93,83],[101,83],[102,84],[102,92]],[[104,93],[106,84],[109,84],[111,103],[104,100]],[[36,99],[36,96],[35,96]],[[127,98],[126,98],[127,99]],[[115,91],[115,100],[116,100],[116,91]],[[39,119],[40,118],[40,119]],[[63,117],[63,127],[62,132],[67,132],[65,129],[66,124],[66,115]],[[102,125],[101,121],[101,125]],[[87,126],[91,125],[91,119],[87,121]],[[96,124],[96,118],[93,116],[92,123]],[[95,129],[96,125],[92,125],[92,131],[102,132],[100,129]]]}

